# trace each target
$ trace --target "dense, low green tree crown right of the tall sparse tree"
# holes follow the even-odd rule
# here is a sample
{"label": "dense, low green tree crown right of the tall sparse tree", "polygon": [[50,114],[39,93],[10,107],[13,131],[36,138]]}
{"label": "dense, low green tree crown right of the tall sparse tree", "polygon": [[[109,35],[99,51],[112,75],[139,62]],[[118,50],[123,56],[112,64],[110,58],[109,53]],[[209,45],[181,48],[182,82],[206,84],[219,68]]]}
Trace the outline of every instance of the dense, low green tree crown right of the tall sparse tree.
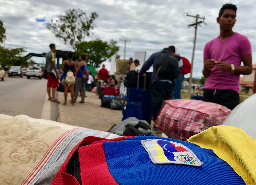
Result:
{"label": "dense, low green tree crown right of the tall sparse tree", "polygon": [[88,54],[88,65],[100,67],[100,64],[111,58],[119,50],[116,46],[117,42],[110,40],[110,42],[102,41],[96,39],[94,41],[81,42],[77,45],[77,50],[75,51],[75,56],[79,57],[81,53]]}

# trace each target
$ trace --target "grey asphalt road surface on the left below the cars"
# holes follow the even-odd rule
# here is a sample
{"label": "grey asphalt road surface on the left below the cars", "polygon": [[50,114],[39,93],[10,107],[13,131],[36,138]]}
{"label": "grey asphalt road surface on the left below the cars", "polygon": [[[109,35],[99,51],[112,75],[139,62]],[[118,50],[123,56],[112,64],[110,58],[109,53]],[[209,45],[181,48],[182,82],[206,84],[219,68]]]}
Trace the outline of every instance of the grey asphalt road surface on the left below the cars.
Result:
{"label": "grey asphalt road surface on the left below the cars", "polygon": [[[0,81],[0,114],[16,116],[25,114],[33,118],[41,118],[46,101],[47,80],[27,79],[5,76]],[[51,120],[57,120],[57,104],[51,103]]]}

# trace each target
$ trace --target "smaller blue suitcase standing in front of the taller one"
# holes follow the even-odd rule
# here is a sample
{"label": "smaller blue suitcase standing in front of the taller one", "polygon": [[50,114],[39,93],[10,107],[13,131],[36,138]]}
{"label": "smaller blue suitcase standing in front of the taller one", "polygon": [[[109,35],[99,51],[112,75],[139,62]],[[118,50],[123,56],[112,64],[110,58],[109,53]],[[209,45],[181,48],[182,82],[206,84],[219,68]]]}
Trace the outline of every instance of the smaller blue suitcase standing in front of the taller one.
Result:
{"label": "smaller blue suitcase standing in front of the taller one", "polygon": [[131,102],[127,105],[123,106],[123,119],[124,121],[126,118],[129,117],[136,117],[137,119],[142,119],[142,104],[141,102]]}

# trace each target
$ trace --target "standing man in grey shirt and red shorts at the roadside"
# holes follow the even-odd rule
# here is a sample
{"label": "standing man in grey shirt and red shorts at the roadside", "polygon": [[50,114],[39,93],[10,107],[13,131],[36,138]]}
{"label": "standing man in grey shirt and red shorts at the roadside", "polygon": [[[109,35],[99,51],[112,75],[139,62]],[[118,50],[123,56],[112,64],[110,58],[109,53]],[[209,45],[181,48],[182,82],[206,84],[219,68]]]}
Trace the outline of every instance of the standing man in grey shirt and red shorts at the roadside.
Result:
{"label": "standing man in grey shirt and red shorts at the roadside", "polygon": [[[49,45],[50,51],[46,53],[45,58],[46,58],[46,70],[47,70],[47,93],[48,93],[48,100],[56,103],[60,103],[56,98],[55,98],[55,92],[58,84],[58,79],[59,79],[59,73],[57,71],[57,67],[55,64],[55,55],[54,53],[56,52],[56,47],[55,44],[51,43]],[[51,96],[52,93],[52,96]]]}

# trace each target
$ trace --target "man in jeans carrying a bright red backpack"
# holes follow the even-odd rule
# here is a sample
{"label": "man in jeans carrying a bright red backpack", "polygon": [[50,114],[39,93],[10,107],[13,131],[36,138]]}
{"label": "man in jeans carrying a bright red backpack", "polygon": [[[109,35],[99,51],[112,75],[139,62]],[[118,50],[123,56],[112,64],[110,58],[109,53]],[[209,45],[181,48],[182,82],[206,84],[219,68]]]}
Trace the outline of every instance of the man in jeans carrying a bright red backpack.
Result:
{"label": "man in jeans carrying a bright red backpack", "polygon": [[[189,63],[188,59],[186,59],[185,57],[180,57],[175,53],[176,49],[174,46],[169,46],[169,49],[171,50],[171,53],[179,61],[180,74],[178,78],[175,79],[175,87],[174,87],[174,99],[178,100],[178,99],[181,99],[181,87],[182,87],[182,82],[184,80],[184,74],[188,74],[191,72],[191,64]],[[181,63],[183,64],[182,66],[180,66]]]}

